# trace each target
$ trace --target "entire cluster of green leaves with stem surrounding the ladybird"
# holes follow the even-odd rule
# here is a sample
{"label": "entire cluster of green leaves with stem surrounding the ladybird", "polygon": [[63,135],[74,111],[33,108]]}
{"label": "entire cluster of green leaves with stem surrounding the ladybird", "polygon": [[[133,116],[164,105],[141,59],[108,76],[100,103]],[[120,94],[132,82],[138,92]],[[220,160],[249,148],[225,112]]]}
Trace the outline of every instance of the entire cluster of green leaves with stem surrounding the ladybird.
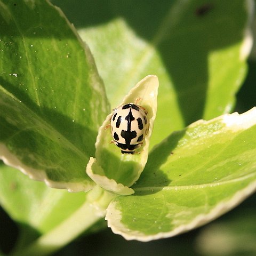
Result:
{"label": "entire cluster of green leaves with stem surrounding the ladybird", "polygon": [[[105,215],[126,239],[170,237],[253,193],[256,110],[217,117],[246,74],[251,3],[141,3],[134,13],[110,1],[105,20],[83,14],[78,36],[48,1],[0,1],[0,156],[54,187],[1,165],[0,202],[23,234],[14,255],[49,254]],[[137,98],[151,130],[141,154],[124,156],[104,128],[110,105]],[[200,118],[214,119],[185,128]]]}

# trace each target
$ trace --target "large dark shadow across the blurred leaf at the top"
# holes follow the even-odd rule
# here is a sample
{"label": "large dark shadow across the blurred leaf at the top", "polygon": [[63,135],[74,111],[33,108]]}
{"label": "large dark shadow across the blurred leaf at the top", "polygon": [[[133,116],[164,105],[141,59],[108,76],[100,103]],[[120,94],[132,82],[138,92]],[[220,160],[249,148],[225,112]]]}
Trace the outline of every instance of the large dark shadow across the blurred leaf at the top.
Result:
{"label": "large dark shadow across the blurred leaf at the top", "polygon": [[153,45],[173,82],[185,125],[203,118],[210,54],[237,44],[243,37],[245,21],[235,18],[241,1],[233,1],[232,6],[225,1],[52,2],[77,28],[106,25],[122,18],[135,34]]}

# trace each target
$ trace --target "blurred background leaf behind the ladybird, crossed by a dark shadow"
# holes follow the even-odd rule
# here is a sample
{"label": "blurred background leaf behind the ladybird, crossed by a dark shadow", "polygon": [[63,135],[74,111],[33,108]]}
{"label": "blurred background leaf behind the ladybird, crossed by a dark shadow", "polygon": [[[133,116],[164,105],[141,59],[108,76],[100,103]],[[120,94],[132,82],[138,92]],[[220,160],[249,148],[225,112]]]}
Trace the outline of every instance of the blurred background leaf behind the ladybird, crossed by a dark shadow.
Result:
{"label": "blurred background leaf behind the ladybird, crossed by a dark shadow", "polygon": [[252,1],[54,3],[89,44],[111,107],[142,77],[158,76],[151,146],[191,122],[233,109],[252,45]]}

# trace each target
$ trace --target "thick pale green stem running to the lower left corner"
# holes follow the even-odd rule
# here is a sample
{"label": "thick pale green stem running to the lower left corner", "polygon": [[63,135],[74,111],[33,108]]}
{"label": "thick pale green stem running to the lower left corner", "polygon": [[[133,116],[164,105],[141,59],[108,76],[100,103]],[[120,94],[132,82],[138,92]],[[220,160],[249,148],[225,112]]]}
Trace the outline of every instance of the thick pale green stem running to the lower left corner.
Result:
{"label": "thick pale green stem running to the lower left corner", "polygon": [[[100,197],[99,193],[101,194]],[[86,202],[67,220],[39,237],[25,249],[19,249],[11,255],[45,256],[59,250],[78,235],[81,235],[95,222],[105,217],[106,208],[114,196],[107,191],[103,191],[100,187],[95,187],[89,192]],[[97,201],[95,201],[95,198],[97,198]]]}

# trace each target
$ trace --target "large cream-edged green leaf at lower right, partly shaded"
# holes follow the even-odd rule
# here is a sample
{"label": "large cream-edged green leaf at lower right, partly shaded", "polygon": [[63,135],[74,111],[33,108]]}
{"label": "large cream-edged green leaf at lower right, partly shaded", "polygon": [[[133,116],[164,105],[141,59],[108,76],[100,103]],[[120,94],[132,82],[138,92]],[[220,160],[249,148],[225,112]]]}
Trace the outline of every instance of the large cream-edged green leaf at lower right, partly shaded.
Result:
{"label": "large cream-edged green leaf at lower right, partly shaded", "polygon": [[198,121],[150,151],[134,194],[107,209],[114,233],[150,241],[202,226],[256,190],[256,108]]}

